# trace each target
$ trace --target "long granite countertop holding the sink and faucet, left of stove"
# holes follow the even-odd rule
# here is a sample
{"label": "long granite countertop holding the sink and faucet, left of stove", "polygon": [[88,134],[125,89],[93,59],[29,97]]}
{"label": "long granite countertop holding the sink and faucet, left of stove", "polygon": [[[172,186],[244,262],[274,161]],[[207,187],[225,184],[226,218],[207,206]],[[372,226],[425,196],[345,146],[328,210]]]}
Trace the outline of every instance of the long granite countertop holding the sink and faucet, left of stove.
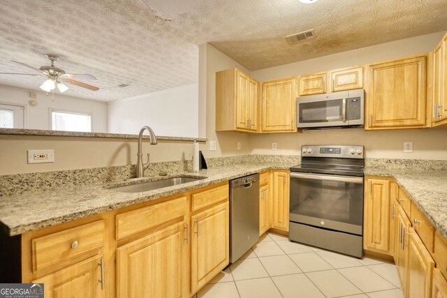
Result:
{"label": "long granite countertop holding the sink and faucet, left of stove", "polygon": [[[0,197],[1,228],[10,236],[13,236],[105,211],[156,200],[168,195],[191,191],[194,188],[217,184],[263,170],[288,169],[293,165],[290,163],[243,163],[200,170],[199,172],[178,172],[175,174],[176,177],[183,175],[207,178],[142,193],[122,193],[110,189],[110,187],[122,185],[117,181],[112,184],[89,184],[56,188],[52,191],[3,196]],[[150,181],[151,179],[154,178],[148,178],[147,180]]]}

